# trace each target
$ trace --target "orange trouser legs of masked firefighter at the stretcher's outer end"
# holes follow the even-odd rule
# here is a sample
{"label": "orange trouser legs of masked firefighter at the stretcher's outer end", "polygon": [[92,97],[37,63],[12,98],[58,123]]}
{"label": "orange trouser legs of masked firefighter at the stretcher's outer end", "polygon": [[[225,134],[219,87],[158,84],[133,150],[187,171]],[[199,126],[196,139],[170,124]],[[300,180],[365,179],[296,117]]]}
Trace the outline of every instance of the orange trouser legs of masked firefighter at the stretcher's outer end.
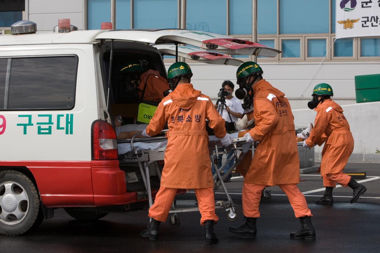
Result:
{"label": "orange trouser legs of masked firefighter at the stretcher's outer end", "polygon": [[[257,218],[260,217],[259,204],[261,192],[266,185],[253,185],[244,183],[242,192],[243,214],[245,217]],[[307,203],[304,194],[298,189],[297,185],[287,184],[279,185],[281,190],[286,194],[294,210],[296,218],[304,216],[313,216],[310,209],[307,208]]]}

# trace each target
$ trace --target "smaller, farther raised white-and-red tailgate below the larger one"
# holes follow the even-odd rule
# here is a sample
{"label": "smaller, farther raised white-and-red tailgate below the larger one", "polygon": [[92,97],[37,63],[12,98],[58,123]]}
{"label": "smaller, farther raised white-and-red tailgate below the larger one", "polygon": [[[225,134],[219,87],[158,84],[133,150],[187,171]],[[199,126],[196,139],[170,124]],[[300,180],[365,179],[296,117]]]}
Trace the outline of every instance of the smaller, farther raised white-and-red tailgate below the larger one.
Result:
{"label": "smaller, farther raised white-and-red tailgate below the larger one", "polygon": [[[176,55],[176,46],[173,44],[158,44],[154,47],[160,51],[161,55]],[[210,64],[240,66],[243,63],[228,55],[187,46],[178,46],[178,56]]]}

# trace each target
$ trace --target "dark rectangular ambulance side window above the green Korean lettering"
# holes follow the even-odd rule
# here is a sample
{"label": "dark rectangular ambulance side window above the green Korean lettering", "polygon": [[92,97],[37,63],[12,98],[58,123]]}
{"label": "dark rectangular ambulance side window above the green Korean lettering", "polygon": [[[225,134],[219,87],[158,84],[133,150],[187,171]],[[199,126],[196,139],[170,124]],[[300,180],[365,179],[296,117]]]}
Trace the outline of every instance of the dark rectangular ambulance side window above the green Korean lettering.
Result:
{"label": "dark rectangular ambulance side window above the green Korean lettering", "polygon": [[5,109],[74,107],[76,56],[13,58],[11,66],[8,107]]}

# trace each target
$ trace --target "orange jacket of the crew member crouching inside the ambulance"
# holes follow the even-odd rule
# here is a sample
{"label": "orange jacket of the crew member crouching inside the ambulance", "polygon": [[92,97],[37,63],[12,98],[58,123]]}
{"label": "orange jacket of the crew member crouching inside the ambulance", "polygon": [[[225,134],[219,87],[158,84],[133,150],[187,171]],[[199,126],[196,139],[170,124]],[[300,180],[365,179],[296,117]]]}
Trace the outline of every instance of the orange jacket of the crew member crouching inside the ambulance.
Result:
{"label": "orange jacket of the crew member crouching inside the ambulance", "polygon": [[160,73],[157,70],[148,70],[142,73],[140,80],[138,87],[139,98],[141,97],[146,82],[144,98],[142,98],[142,100],[145,101],[160,102],[164,98],[163,92],[170,89],[168,81],[160,76]]}

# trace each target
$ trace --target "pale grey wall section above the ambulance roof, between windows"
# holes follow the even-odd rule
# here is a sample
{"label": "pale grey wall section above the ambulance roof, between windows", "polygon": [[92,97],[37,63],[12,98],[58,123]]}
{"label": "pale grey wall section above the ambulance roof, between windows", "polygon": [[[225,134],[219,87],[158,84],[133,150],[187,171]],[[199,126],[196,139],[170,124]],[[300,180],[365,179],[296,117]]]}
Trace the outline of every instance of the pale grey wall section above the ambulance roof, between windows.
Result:
{"label": "pale grey wall section above the ambulance roof, between windows", "polygon": [[53,32],[58,19],[70,19],[70,23],[83,30],[85,27],[85,1],[80,0],[25,0],[27,20],[37,24],[41,32]]}

